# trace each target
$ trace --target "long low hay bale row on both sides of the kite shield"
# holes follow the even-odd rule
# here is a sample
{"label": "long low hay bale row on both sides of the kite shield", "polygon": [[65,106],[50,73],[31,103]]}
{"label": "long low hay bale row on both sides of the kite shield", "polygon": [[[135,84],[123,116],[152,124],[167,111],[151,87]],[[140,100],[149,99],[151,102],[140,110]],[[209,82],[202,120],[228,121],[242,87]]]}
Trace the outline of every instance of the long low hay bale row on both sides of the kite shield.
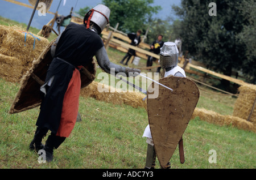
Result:
{"label": "long low hay bale row on both sides of the kite shield", "polygon": [[[105,92],[98,92],[98,87],[105,88]],[[127,104],[133,108],[142,107],[147,109],[147,101],[143,98],[145,95],[139,92],[117,92],[113,87],[98,82],[92,82],[87,87],[81,89],[81,96],[93,97],[96,100],[112,102],[113,104]],[[238,101],[239,102],[239,101]],[[238,113],[239,114],[239,113]],[[220,126],[232,126],[242,130],[256,132],[255,125],[238,115],[222,115],[212,110],[196,108],[191,119],[199,117],[202,121],[214,123]],[[255,122],[255,121],[254,121]]]}

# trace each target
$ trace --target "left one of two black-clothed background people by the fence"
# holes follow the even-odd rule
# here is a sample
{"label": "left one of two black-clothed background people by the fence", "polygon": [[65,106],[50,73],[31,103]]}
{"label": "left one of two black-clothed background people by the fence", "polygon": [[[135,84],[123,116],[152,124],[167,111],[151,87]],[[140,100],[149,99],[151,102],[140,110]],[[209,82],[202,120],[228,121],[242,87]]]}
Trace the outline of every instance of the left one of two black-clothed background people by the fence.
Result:
{"label": "left one of two black-clothed background people by the fence", "polygon": [[[129,33],[128,37],[131,40],[130,45],[138,46],[139,43],[141,42],[141,30],[138,30],[136,34],[135,33]],[[130,58],[133,55],[136,55],[135,50],[134,49],[129,49],[127,54],[125,55],[125,57],[123,57],[122,61],[120,61],[120,63],[123,65],[123,61],[125,61],[125,59],[127,58],[127,61],[126,61],[125,65],[128,65],[128,62],[129,62]]]}

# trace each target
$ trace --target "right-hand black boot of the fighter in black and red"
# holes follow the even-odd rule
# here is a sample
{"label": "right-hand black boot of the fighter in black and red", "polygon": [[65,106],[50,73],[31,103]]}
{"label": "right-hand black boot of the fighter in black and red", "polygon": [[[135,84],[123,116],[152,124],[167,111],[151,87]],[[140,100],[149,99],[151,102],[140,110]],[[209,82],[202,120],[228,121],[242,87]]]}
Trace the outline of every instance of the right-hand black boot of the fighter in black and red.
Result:
{"label": "right-hand black boot of the fighter in black and red", "polygon": [[46,151],[46,161],[51,162],[53,160],[53,149],[57,149],[61,143],[64,142],[66,138],[60,137],[56,135],[49,135],[46,141],[46,145],[44,145],[43,150]]}

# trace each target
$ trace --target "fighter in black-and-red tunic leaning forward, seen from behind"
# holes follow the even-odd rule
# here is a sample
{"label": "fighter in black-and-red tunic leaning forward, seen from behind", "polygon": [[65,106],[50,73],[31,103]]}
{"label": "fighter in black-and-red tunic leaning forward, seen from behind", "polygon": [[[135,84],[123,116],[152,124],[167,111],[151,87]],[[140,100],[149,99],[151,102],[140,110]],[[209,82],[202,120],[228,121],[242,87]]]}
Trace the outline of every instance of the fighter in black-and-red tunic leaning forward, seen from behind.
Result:
{"label": "fighter in black-and-red tunic leaning forward, seen from behind", "polygon": [[[53,149],[57,149],[64,142],[75,126],[79,107],[81,66],[92,63],[95,55],[98,65],[105,72],[110,73],[110,68],[114,68],[115,74],[123,72],[127,76],[141,72],[109,61],[99,36],[108,24],[109,15],[108,7],[97,5],[85,15],[84,24],[69,24],[57,38],[55,55],[48,68],[46,82],[40,88],[43,100],[36,122],[38,127],[30,143],[30,149],[43,149],[46,152],[48,162],[53,159]],[[51,135],[43,145],[42,139],[48,130]]]}

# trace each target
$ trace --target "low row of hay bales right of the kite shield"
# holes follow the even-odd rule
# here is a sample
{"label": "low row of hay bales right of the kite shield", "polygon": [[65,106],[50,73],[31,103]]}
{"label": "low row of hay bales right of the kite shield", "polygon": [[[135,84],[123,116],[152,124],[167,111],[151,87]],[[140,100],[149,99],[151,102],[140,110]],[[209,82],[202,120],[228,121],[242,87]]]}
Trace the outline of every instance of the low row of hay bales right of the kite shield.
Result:
{"label": "low row of hay bales right of the kite shield", "polygon": [[229,126],[237,127],[242,130],[248,130],[256,132],[256,129],[253,123],[246,121],[245,119],[234,117],[232,115],[221,115],[212,110],[206,110],[204,108],[196,108],[193,112],[192,118],[199,117],[202,121],[209,123],[214,123],[220,126]]}

